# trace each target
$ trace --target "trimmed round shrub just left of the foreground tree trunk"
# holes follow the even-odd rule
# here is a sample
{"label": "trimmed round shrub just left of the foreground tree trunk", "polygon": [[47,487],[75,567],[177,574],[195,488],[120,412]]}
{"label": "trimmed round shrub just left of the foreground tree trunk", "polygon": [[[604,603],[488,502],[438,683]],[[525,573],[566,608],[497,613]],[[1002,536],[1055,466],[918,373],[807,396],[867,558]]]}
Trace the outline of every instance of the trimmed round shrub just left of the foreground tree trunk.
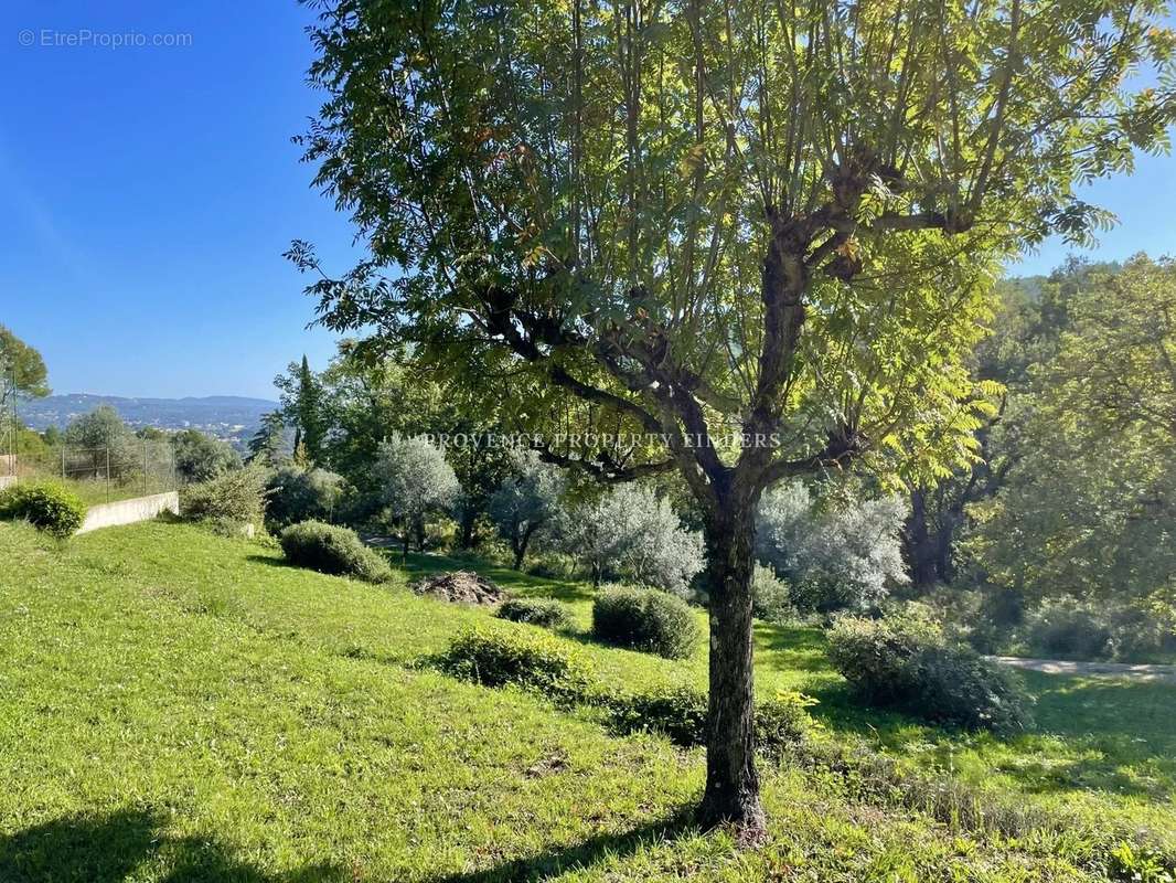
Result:
{"label": "trimmed round shrub just left of the foreground tree trunk", "polygon": [[690,605],[657,589],[606,586],[592,606],[593,635],[608,644],[683,659],[699,643]]}

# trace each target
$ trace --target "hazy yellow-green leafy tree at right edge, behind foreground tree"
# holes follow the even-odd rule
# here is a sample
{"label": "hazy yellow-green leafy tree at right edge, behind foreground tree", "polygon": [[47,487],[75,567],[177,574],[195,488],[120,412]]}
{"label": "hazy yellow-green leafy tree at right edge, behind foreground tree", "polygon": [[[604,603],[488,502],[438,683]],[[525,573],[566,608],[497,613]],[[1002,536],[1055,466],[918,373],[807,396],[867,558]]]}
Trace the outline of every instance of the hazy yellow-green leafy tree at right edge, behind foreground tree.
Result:
{"label": "hazy yellow-green leafy tree at right edge, behind foreground tree", "polygon": [[969,509],[978,576],[1031,599],[1129,603],[1176,579],[1176,266],[1075,274],[1056,344],[993,433],[1000,492]]}

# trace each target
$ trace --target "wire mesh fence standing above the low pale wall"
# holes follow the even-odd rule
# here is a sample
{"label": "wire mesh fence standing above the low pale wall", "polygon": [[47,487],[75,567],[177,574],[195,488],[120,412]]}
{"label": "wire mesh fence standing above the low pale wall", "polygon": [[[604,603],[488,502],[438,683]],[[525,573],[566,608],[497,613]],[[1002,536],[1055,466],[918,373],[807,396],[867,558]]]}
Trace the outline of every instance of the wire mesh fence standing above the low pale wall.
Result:
{"label": "wire mesh fence standing above the low pale wall", "polygon": [[53,445],[0,454],[0,476],[16,482],[52,478],[89,504],[176,490],[175,456],[167,442],[120,439],[98,447]]}

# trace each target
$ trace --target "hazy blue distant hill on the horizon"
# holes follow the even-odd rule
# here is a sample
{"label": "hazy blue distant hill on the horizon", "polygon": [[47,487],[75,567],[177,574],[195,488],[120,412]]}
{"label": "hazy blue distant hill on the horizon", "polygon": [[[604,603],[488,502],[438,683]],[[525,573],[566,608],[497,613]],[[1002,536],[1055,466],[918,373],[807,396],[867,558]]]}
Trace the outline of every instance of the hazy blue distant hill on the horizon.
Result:
{"label": "hazy blue distant hill on the horizon", "polygon": [[206,396],[203,398],[151,399],[120,396],[69,393],[44,399],[22,399],[20,419],[34,430],[65,426],[75,417],[109,405],[131,426],[159,426],[165,430],[198,429],[220,438],[252,434],[261,416],[278,407],[276,401],[241,396]]}

